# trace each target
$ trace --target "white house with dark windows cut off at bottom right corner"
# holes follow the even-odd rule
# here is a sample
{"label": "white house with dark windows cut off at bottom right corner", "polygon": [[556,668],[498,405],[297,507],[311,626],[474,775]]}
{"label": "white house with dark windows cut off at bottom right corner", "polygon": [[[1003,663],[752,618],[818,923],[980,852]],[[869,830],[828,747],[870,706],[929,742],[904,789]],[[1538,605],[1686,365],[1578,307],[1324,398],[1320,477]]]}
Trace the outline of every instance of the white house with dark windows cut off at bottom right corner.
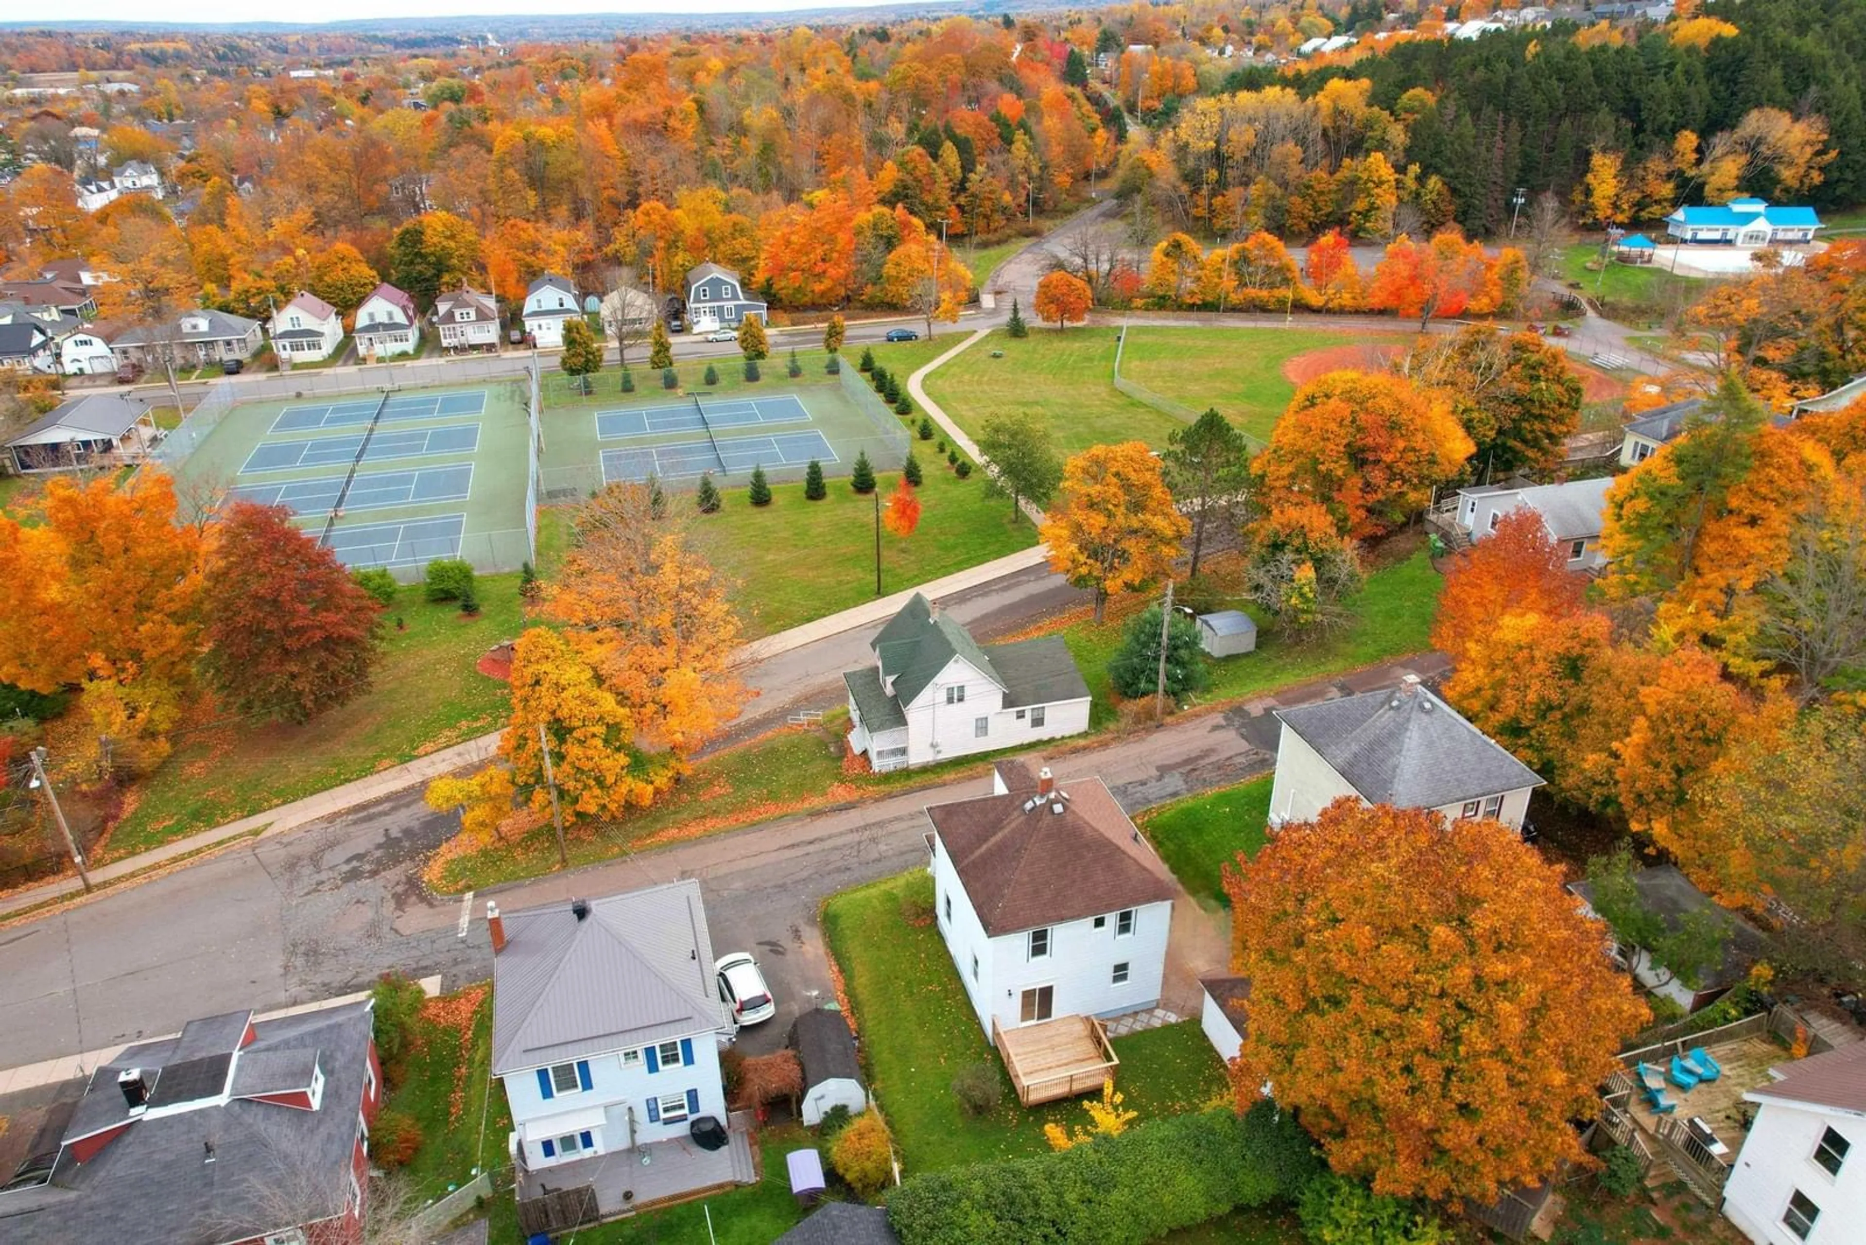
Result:
{"label": "white house with dark windows cut off at bottom right corner", "polygon": [[[1866,1224],[1866,1042],[1769,1070],[1724,1183],[1756,1245],[1855,1245]],[[1853,1154],[1859,1150],[1859,1154]]]}

